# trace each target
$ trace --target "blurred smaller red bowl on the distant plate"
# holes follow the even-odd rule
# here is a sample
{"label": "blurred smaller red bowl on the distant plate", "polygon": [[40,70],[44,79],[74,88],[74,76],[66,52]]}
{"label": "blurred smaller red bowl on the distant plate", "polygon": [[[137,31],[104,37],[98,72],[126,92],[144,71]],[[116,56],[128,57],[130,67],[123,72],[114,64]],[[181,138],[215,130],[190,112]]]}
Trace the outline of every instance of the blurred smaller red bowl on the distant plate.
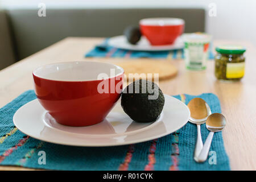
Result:
{"label": "blurred smaller red bowl on the distant plate", "polygon": [[142,35],[152,46],[173,44],[183,33],[184,20],[179,18],[146,18],[139,21]]}

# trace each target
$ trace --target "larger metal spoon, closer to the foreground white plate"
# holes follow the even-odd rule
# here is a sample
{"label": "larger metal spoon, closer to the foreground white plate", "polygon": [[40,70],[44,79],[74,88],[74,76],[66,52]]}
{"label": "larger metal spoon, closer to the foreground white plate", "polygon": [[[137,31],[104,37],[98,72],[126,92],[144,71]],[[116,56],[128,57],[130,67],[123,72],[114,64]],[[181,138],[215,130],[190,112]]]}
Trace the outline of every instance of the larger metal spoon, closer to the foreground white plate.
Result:
{"label": "larger metal spoon, closer to the foreground white plate", "polygon": [[197,140],[194,154],[194,159],[197,162],[197,157],[200,155],[203,148],[200,125],[205,123],[208,116],[212,114],[212,112],[210,111],[210,107],[207,102],[201,98],[193,98],[191,101],[189,101],[188,108],[191,113],[188,121],[197,125]]}

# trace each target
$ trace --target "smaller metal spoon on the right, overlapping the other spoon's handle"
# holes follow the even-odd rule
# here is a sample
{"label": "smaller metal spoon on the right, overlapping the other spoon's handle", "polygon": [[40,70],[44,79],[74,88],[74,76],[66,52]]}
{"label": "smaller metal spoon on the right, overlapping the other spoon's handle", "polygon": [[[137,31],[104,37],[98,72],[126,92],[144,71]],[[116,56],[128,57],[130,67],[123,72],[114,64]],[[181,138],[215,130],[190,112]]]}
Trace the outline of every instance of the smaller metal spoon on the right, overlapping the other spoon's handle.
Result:
{"label": "smaller metal spoon on the right, overlapping the other spoon's handle", "polygon": [[224,117],[224,115],[220,113],[214,113],[209,115],[206,126],[210,133],[207,137],[207,140],[205,140],[204,147],[200,155],[197,158],[198,162],[205,162],[205,160],[207,160],[214,132],[221,131],[222,129],[224,129],[225,125],[226,118]]}

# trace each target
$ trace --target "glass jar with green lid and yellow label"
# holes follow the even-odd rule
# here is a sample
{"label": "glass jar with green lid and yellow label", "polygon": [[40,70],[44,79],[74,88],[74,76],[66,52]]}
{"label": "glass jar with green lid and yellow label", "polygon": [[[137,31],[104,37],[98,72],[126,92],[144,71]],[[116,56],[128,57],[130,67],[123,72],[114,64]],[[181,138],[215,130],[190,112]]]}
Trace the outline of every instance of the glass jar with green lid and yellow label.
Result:
{"label": "glass jar with green lid and yellow label", "polygon": [[239,81],[245,74],[246,51],[242,46],[218,46],[215,56],[215,76],[218,80]]}

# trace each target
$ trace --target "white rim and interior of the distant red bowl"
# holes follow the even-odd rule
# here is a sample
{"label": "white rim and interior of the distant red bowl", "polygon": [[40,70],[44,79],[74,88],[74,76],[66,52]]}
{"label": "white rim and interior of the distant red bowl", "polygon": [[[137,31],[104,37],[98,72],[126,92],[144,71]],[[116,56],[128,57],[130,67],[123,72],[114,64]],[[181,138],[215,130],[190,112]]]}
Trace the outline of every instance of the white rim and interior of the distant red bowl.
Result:
{"label": "white rim and interior of the distant red bowl", "polygon": [[184,23],[181,18],[144,18],[139,20],[139,24],[143,26],[176,26]]}

